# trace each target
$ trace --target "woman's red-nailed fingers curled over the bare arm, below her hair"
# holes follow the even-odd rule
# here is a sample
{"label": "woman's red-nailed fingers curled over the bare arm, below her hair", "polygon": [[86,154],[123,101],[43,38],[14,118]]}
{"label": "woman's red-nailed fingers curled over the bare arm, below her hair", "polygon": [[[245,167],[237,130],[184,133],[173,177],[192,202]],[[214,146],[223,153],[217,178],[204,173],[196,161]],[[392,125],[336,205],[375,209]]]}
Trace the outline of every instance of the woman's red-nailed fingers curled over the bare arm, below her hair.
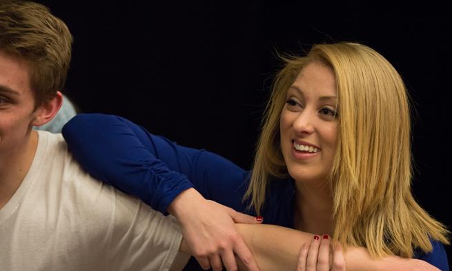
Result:
{"label": "woman's red-nailed fingers curled over the bare arm, below her hair", "polygon": [[[330,251],[333,250],[333,254]],[[327,234],[315,235],[311,244],[305,243],[299,251],[297,271],[345,271],[345,259],[342,245],[330,247]]]}

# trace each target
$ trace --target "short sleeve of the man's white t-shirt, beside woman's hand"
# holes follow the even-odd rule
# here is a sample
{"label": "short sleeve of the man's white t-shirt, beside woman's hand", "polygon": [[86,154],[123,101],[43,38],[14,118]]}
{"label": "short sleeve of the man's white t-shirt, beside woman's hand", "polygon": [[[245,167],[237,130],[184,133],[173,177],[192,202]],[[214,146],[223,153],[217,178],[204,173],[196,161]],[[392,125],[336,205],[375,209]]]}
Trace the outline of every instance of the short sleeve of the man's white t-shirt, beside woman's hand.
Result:
{"label": "short sleeve of the man's white t-shirt, beside woman's hand", "polygon": [[166,271],[185,265],[189,256],[179,252],[182,234],[174,217],[119,191],[114,206],[107,270]]}

